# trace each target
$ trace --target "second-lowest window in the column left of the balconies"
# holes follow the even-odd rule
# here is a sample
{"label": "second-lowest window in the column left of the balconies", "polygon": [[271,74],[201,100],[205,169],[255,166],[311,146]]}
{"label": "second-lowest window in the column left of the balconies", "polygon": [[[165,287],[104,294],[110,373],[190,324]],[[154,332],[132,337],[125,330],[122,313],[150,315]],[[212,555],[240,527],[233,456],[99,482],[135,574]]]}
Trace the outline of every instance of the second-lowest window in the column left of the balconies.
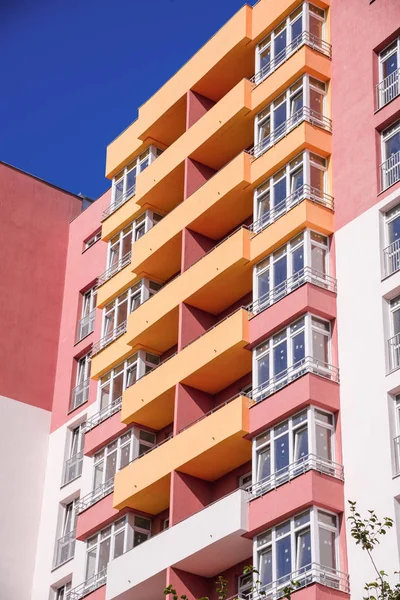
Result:
{"label": "second-lowest window in the column left of the balconies", "polygon": [[153,432],[130,429],[94,455],[93,490],[109,484],[115,473],[155,445]]}

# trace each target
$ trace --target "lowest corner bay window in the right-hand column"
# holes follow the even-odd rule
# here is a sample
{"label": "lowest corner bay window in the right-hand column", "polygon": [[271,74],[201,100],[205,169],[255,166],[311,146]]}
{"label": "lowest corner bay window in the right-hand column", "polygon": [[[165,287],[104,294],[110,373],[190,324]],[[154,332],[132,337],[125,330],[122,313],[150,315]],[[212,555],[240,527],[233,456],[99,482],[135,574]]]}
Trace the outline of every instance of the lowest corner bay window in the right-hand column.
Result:
{"label": "lowest corner bay window in the right-hand column", "polygon": [[279,590],[289,581],[340,587],[337,516],[313,507],[257,536],[261,589]]}

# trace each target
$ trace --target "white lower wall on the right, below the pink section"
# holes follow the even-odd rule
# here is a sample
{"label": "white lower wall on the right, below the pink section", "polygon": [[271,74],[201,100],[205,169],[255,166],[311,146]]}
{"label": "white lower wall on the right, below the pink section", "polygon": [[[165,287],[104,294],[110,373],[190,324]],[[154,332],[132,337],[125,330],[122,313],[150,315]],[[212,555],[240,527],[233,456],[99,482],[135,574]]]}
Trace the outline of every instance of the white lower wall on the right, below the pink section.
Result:
{"label": "white lower wall on the right, below the pink section", "polygon": [[[389,393],[400,388],[400,370],[386,375],[390,333],[383,296],[396,295],[400,275],[382,282],[381,211],[395,201],[394,196],[387,198],[335,236],[346,502],[355,500],[362,512],[373,509],[380,517],[392,518],[400,478],[393,477],[394,414]],[[347,545],[352,596],[362,598],[363,586],[374,579],[374,572],[366,553],[352,540],[349,525]],[[376,550],[376,561],[387,572],[399,569],[396,528]]]}

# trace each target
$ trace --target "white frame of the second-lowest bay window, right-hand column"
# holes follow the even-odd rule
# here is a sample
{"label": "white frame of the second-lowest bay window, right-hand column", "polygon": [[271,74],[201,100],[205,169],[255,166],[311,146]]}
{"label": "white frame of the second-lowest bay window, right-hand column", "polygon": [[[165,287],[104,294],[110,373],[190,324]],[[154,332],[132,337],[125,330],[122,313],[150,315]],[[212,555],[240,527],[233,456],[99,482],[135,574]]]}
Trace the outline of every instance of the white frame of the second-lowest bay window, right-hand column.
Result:
{"label": "white frame of the second-lowest bay window, right-hand column", "polygon": [[[320,414],[327,415],[331,423],[321,421]],[[300,420],[301,419],[301,420]],[[297,421],[297,422],[296,422]],[[284,427],[287,426],[286,429]],[[295,439],[296,432],[304,429],[307,426],[308,453],[304,459],[297,459],[295,462]],[[327,461],[323,457],[317,455],[317,426],[324,427],[331,432],[330,435],[330,451],[331,460]],[[275,442],[287,435],[288,438],[288,464],[278,474],[275,470]],[[270,450],[270,471],[271,474],[266,481],[262,481],[260,477],[260,468],[262,466],[261,456],[269,448]],[[282,485],[289,481],[292,477],[304,473],[309,468],[309,463],[318,466],[318,470],[326,474],[334,474],[332,465],[335,462],[336,456],[336,419],[335,415],[329,411],[322,410],[313,405],[297,412],[288,417],[284,421],[277,423],[274,427],[270,427],[253,438],[252,443],[252,484],[255,495],[265,493],[274,489],[278,485]],[[314,459],[311,460],[310,459]]]}

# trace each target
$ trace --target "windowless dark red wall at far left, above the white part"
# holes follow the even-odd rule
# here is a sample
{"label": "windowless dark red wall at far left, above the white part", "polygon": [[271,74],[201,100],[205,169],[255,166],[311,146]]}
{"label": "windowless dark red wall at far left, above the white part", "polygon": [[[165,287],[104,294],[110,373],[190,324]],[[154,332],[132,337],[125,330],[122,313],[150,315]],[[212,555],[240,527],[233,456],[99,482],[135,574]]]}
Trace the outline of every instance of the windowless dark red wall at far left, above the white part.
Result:
{"label": "windowless dark red wall at far left, above the white part", "polygon": [[81,200],[0,163],[0,395],[51,410],[69,222]]}

